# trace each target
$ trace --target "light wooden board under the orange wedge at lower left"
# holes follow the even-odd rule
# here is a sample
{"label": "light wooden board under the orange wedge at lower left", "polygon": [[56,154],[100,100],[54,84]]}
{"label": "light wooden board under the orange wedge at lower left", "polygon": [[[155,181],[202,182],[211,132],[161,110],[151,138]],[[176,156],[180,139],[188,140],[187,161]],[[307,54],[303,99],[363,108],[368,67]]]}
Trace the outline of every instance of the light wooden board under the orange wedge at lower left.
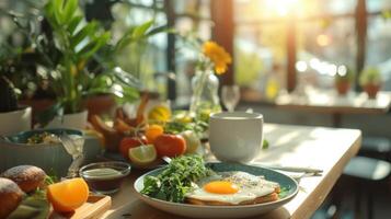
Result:
{"label": "light wooden board under the orange wedge at lower left", "polygon": [[73,214],[59,215],[53,212],[50,219],[97,219],[112,207],[112,198],[104,195],[90,195],[84,205],[78,208]]}

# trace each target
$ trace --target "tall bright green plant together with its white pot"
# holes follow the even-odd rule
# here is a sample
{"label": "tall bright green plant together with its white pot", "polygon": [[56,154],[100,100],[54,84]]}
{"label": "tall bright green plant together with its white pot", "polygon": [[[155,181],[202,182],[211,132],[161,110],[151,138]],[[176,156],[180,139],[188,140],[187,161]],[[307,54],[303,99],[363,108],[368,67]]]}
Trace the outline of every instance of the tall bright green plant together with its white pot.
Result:
{"label": "tall bright green plant together with its white pot", "polygon": [[88,68],[93,56],[108,44],[111,32],[104,31],[95,21],[88,22],[77,0],[49,1],[44,14],[53,30],[60,59],[47,66],[57,103],[44,114],[42,120],[54,117],[48,123],[49,127],[81,129],[87,125],[84,100],[88,96],[113,93],[127,100],[138,97],[140,84],[131,76],[117,68],[103,68],[99,74]]}

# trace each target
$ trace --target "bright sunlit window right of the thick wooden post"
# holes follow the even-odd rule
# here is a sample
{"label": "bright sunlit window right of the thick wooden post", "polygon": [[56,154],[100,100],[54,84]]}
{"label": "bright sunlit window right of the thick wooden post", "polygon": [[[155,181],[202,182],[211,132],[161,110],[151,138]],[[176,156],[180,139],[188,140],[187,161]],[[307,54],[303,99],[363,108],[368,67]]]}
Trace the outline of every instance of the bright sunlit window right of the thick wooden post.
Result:
{"label": "bright sunlit window right of the thick wooden post", "polygon": [[[375,65],[386,79],[383,89],[391,89],[390,1],[235,0],[234,8],[235,80],[244,100],[273,100],[276,90],[287,90],[289,84],[297,90],[332,89],[341,66],[358,74]],[[368,16],[365,55],[357,43],[358,35],[366,37],[356,28],[363,26],[356,19],[360,9]],[[360,64],[357,56],[366,57],[365,61]]]}

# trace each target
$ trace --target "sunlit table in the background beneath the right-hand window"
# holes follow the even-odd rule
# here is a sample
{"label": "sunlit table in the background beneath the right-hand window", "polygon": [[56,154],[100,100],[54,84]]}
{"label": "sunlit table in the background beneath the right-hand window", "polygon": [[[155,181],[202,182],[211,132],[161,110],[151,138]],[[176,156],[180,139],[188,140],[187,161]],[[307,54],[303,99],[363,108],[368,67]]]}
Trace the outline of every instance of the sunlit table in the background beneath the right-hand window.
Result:
{"label": "sunlit table in the background beneath the right-hand window", "polygon": [[335,92],[312,91],[308,95],[284,94],[277,97],[279,108],[325,113],[333,115],[333,127],[341,127],[342,114],[386,114],[391,107],[391,92],[379,92],[377,99],[366,93],[350,92],[340,96]]}

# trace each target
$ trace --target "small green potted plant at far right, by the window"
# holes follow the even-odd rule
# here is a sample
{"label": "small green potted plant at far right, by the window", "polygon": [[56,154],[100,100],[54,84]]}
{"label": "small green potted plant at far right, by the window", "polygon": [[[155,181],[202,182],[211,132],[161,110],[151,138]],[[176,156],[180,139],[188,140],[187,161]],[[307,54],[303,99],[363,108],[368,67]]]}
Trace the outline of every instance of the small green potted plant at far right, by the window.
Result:
{"label": "small green potted plant at far right, by the window", "polygon": [[363,70],[359,83],[369,99],[376,99],[381,87],[381,74],[378,68],[368,67]]}

